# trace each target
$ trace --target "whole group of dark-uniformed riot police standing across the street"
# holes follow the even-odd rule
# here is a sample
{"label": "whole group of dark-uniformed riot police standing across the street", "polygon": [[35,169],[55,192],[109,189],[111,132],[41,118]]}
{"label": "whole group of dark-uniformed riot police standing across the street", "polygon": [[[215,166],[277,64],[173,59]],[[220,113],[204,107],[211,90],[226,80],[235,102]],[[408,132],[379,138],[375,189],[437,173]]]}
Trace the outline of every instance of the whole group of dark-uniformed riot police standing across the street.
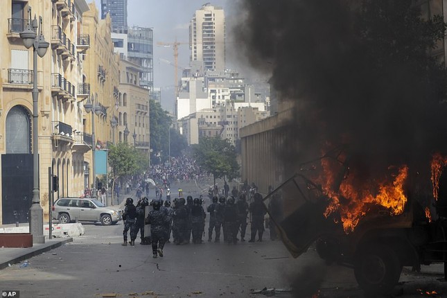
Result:
{"label": "whole group of dark-uniformed riot police standing across the street", "polygon": [[[184,245],[190,243],[191,235],[193,243],[202,243],[205,234],[206,213],[202,207],[203,200],[191,195],[184,198],[175,198],[174,206],[170,206],[170,200],[163,204],[162,200],[148,201],[144,197],[134,206],[133,199],[128,198],[123,212],[124,230],[123,245],[128,245],[128,232],[130,231],[130,245],[134,245],[138,232],[140,232],[141,244],[152,244],[152,256],[163,256],[163,247],[169,242],[172,231],[174,243]],[[207,207],[209,213],[208,241],[211,242],[213,231],[214,242],[220,241],[220,231],[223,231],[223,240],[228,244],[236,244],[240,233],[240,240],[245,241],[247,219],[251,218],[251,237],[249,242],[263,239],[265,207],[260,193],[254,194],[254,201],[247,203],[245,193],[239,195],[238,200],[230,195],[228,198],[214,196],[212,203]],[[152,205],[152,210],[145,216],[145,209]],[[150,225],[150,237],[144,236],[144,225]]]}

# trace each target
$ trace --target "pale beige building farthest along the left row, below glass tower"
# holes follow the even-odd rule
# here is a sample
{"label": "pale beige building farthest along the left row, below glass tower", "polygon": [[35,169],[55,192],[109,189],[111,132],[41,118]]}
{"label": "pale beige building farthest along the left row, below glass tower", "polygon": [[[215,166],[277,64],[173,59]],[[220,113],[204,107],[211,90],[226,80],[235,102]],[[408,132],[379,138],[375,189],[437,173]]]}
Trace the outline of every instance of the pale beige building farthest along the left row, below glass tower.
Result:
{"label": "pale beige building farthest along the left row, below glass tower", "polygon": [[[127,60],[120,62],[118,134],[120,142],[127,142],[149,156],[149,93],[140,85],[141,67]],[[127,129],[127,130],[126,130]]]}

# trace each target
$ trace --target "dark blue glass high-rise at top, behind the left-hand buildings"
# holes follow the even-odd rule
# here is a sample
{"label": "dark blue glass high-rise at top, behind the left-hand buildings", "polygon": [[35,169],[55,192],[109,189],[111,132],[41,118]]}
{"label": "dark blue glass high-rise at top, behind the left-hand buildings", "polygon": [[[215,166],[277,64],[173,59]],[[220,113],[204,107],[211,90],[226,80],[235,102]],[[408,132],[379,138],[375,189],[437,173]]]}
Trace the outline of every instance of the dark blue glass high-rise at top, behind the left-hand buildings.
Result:
{"label": "dark blue glass high-rise at top, behind the left-hand buildings", "polygon": [[101,0],[101,19],[105,19],[107,13],[112,19],[112,32],[128,30],[128,0]]}

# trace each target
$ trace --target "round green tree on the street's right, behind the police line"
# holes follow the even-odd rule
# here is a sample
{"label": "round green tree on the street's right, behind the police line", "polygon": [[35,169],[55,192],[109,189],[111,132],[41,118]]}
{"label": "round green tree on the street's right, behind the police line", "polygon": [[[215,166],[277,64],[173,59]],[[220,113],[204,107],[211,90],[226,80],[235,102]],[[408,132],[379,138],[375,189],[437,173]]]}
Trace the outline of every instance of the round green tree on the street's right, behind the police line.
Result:
{"label": "round green tree on the street's right, behind the police line", "polygon": [[239,165],[236,160],[234,146],[227,139],[218,137],[202,137],[197,145],[192,146],[193,157],[207,173],[216,178],[234,179],[239,176]]}

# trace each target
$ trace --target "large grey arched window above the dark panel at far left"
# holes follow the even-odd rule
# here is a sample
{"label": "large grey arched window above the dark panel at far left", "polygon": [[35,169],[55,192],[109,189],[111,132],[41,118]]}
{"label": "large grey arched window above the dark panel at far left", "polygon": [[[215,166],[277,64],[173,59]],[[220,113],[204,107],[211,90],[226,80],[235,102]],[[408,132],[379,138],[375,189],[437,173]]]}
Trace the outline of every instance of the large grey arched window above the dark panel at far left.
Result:
{"label": "large grey arched window above the dark panel at far left", "polygon": [[30,114],[20,105],[12,107],[6,116],[6,153],[31,152]]}

